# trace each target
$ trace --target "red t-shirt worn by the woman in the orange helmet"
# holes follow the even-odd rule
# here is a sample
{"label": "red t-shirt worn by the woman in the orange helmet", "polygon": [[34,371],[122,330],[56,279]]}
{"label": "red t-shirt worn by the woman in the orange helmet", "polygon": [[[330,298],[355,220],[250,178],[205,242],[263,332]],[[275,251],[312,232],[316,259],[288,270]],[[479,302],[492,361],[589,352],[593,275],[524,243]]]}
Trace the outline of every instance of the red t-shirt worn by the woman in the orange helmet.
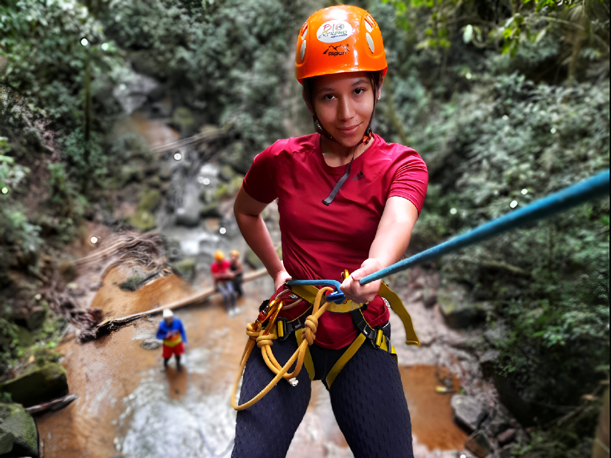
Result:
{"label": "red t-shirt worn by the woman in the orange helmet", "polygon": [[[278,140],[257,154],[244,178],[244,191],[255,200],[278,199],[282,260],[295,279],[342,281],[344,269],[359,269],[368,258],[384,205],[389,197],[408,199],[420,210],[428,172],[411,148],[387,144],[374,134],[373,143],[354,159],[348,179],[326,206],[322,202],[348,165],[331,167],[320,150],[320,134]],[[289,319],[306,305],[284,313]],[[384,324],[389,311],[376,297],[364,312],[371,326]],[[349,313],[324,313],[316,344],[342,348],[357,336]]]}

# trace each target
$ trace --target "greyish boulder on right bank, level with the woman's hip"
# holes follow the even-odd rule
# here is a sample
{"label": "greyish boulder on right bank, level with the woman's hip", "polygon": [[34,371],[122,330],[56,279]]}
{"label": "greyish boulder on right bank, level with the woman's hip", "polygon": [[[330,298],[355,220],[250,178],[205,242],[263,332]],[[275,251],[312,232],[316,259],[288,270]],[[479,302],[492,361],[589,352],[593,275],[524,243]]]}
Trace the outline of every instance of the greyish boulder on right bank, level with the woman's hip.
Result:
{"label": "greyish boulder on right bank, level with the woman's hip", "polygon": [[458,283],[440,289],[437,302],[446,324],[453,329],[469,327],[485,317],[485,304],[471,302],[466,286]]}

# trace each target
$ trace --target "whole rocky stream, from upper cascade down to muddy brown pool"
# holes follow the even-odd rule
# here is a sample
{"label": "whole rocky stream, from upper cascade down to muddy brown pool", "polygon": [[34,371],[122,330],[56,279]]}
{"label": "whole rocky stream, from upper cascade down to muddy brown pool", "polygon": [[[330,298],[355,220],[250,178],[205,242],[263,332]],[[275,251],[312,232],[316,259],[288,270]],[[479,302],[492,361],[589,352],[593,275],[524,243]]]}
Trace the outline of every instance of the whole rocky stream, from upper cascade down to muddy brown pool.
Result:
{"label": "whole rocky stream, from upper cascade down to muddy brown pool", "polygon": [[[159,120],[140,113],[131,115],[128,128],[140,133],[153,147],[178,139],[178,133]],[[196,259],[196,274],[187,282],[175,274],[158,277],[125,291],[125,273],[111,269],[92,293],[92,304],[115,317],[149,310],[187,297],[211,285],[207,272],[216,249],[228,252],[246,244],[231,216],[231,203],[221,205],[222,217],[201,220],[193,227],[174,224],[174,213],[198,211],[204,186],[218,180],[218,164],[197,162],[189,148],[181,158],[160,156],[172,167],[174,192],[171,205],[156,213],[160,233],[176,241],[185,256]],[[207,180],[203,180],[203,178]],[[172,188],[170,188],[172,189]],[[89,225],[87,238],[100,233]],[[274,231],[273,236],[274,236]],[[415,273],[414,273],[415,272]],[[397,347],[401,379],[412,416],[414,454],[422,458],[454,458],[463,450],[467,435],[453,421],[451,394],[475,383],[477,361],[459,349],[463,336],[445,327],[437,306],[425,307],[418,285],[436,287],[434,277],[414,271],[415,288],[397,289],[412,314],[422,347],[408,347],[400,319],[392,314],[393,341]],[[413,281],[412,281],[413,280]],[[413,286],[413,285],[412,285]],[[141,344],[155,336],[159,315],[142,318],[85,344],[66,338],[57,351],[67,370],[70,393],[78,399],[58,412],[36,418],[41,452],[45,458],[174,458],[228,457],[233,444],[235,412],[229,393],[246,344],[246,324],[258,305],[273,293],[269,277],[244,283],[243,312],[229,318],[219,296],[204,304],[175,310],[185,324],[188,347],[185,370],[177,372],[174,360],[161,371],[161,348]],[[256,350],[256,349],[255,349]],[[288,457],[326,458],[353,456],[335,423],[329,394],[320,381],[313,382],[304,420],[295,434]]]}

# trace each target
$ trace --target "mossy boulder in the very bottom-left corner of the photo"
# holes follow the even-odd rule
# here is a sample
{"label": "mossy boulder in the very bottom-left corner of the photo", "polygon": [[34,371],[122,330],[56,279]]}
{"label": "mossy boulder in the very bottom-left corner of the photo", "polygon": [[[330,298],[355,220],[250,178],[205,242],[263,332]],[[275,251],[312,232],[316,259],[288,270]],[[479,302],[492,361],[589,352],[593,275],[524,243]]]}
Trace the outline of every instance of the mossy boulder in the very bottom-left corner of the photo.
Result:
{"label": "mossy boulder in the very bottom-left corner of the photo", "polygon": [[[13,446],[9,453],[2,456],[29,456],[38,458],[38,430],[32,416],[20,404],[0,403],[0,432],[13,436]],[[0,442],[6,444],[10,436],[4,436]]]}

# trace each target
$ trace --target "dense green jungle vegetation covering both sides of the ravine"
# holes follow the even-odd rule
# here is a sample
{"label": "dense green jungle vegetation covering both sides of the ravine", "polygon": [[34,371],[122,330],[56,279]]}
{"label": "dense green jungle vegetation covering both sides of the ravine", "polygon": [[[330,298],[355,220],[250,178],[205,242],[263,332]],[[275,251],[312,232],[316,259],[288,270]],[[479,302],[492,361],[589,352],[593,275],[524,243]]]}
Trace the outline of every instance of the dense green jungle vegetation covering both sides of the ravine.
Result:
{"label": "dense green jungle vegetation covering both sides of the ravine", "polygon": [[[608,0],[349,3],[370,10],[384,35],[389,72],[375,129],[429,167],[412,249],[609,167]],[[274,140],[310,129],[295,109],[293,35],[329,4],[2,2],[2,371],[26,351],[14,312],[45,283],[48,254],[92,208],[111,205],[129,164],[150,160],[137,139],[111,135],[125,117],[115,88],[135,73],[154,78],[161,89],[148,103],[169,98],[183,136],[206,124],[229,131],[229,162],[244,172]],[[536,406],[532,440],[516,456],[587,456],[599,407],[582,396],[609,379],[609,199],[437,265],[444,284],[484,304],[478,346],[500,352],[497,373]],[[53,346],[53,329],[36,338]]]}

